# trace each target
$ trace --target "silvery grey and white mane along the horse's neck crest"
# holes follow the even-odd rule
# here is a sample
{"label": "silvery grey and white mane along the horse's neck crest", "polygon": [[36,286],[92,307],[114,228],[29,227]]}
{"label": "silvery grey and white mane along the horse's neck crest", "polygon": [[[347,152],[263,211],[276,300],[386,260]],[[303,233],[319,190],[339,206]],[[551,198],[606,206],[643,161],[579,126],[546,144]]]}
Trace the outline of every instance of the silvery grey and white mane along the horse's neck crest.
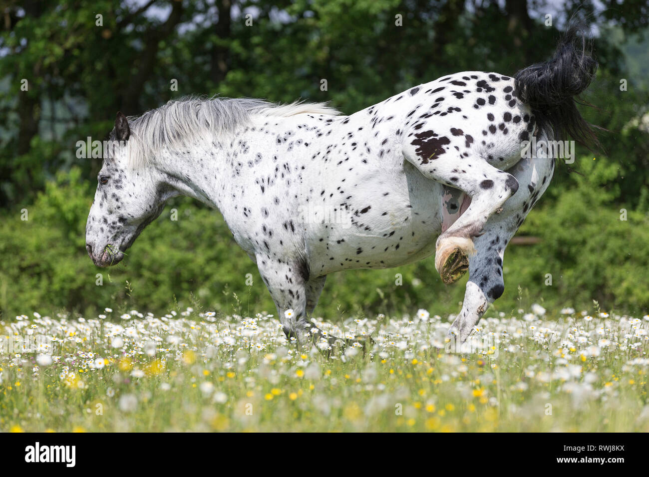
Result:
{"label": "silvery grey and white mane along the horse's neck crest", "polygon": [[188,140],[223,136],[248,123],[253,115],[288,117],[296,114],[336,116],[326,103],[278,104],[251,98],[184,97],[141,116],[129,117],[129,162],[140,167],[154,160],[163,147]]}

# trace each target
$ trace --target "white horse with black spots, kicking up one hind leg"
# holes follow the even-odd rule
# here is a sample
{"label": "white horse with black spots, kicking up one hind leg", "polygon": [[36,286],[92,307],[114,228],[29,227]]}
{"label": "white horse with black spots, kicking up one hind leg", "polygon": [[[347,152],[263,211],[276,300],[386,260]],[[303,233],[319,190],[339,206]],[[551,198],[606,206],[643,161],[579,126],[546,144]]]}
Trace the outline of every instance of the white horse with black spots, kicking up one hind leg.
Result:
{"label": "white horse with black spots, kicking up one hind leg", "polygon": [[435,254],[445,283],[469,271],[450,330],[464,341],[504,291],[509,240],[550,184],[556,160],[525,141],[594,134],[574,96],[596,62],[577,32],[511,78],[465,71],[342,116],[324,104],[170,101],[117,113],[86,225],[86,249],[119,262],[176,195],[218,208],[256,262],[286,336],[310,321],[327,275]]}

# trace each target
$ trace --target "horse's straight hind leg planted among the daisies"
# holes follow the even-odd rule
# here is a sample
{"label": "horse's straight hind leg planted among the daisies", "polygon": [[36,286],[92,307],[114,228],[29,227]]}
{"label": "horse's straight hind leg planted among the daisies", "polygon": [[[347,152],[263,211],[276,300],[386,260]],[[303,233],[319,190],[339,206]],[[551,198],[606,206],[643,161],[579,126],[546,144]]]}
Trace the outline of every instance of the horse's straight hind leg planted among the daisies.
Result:
{"label": "horse's straight hind leg planted among the daisies", "polygon": [[489,217],[484,233],[474,239],[475,253],[469,256],[469,282],[462,310],[449,330],[459,341],[466,341],[489,304],[504,293],[505,248],[550,184],[553,171],[554,160],[545,157],[522,159],[508,170],[520,188],[498,214]]}

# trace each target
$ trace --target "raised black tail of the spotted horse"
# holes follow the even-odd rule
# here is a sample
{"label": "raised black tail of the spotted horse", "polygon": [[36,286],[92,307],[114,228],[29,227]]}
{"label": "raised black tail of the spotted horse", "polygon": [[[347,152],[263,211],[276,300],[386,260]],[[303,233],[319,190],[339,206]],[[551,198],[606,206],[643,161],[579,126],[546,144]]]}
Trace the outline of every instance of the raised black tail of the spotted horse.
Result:
{"label": "raised black tail of the spotted horse", "polygon": [[516,73],[516,94],[520,101],[532,106],[539,127],[552,128],[556,139],[569,136],[591,150],[601,149],[593,128],[574,101],[591,84],[597,70],[590,43],[580,32],[579,27],[570,27],[551,60]]}

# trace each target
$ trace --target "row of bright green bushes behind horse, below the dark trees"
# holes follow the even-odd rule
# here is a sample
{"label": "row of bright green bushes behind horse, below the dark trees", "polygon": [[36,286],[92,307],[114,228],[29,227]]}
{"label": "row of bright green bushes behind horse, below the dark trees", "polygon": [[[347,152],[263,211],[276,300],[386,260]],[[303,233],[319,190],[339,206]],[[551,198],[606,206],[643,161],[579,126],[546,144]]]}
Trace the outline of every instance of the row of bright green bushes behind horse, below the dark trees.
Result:
{"label": "row of bright green bushes behind horse, below the dark trees", "polygon": [[[589,308],[596,299],[604,309],[649,309],[649,219],[644,212],[628,210],[628,220],[620,220],[622,206],[612,205],[620,194],[617,166],[592,158],[579,164],[585,177],[571,178],[574,188],[542,199],[519,232],[541,242],[508,247],[505,293],[496,311],[518,308],[522,297],[522,305],[536,301]],[[93,187],[73,168],[49,182],[26,207],[28,221],[21,220],[20,210],[4,215],[3,316],[59,310],[91,316],[106,307],[162,313],[193,306],[244,315],[275,310],[255,264],[234,243],[221,215],[190,199],[171,201],[119,265],[95,267],[84,247]],[[171,208],[178,210],[177,221],[171,220]],[[546,285],[548,273],[552,286]],[[249,278],[252,286],[246,284]],[[328,277],[316,314],[335,320],[417,308],[457,313],[466,280],[443,285],[432,257],[395,269],[336,273]]]}

